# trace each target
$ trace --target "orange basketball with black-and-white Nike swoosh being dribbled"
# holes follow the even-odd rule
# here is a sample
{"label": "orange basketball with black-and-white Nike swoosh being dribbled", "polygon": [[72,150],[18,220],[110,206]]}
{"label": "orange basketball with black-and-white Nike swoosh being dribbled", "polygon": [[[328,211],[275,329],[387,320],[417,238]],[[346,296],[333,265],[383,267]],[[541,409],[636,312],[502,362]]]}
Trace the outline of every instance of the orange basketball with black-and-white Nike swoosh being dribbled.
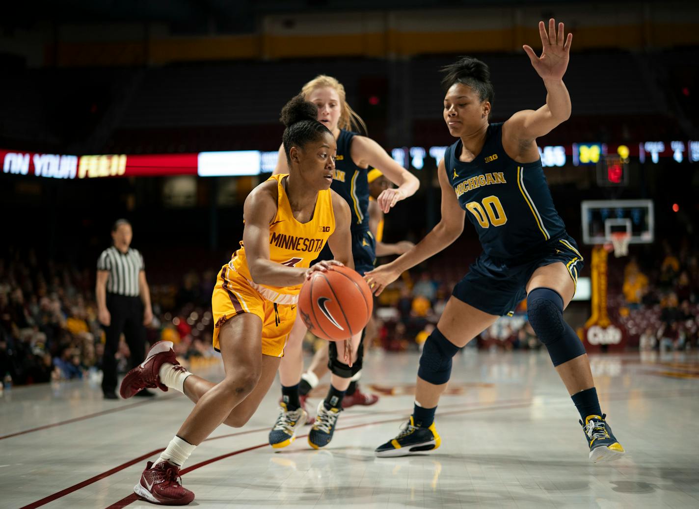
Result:
{"label": "orange basketball with black-and-white Nike swoosh being dribbled", "polygon": [[298,294],[298,312],[319,338],[342,341],[366,327],[373,298],[359,273],[345,266],[314,272]]}

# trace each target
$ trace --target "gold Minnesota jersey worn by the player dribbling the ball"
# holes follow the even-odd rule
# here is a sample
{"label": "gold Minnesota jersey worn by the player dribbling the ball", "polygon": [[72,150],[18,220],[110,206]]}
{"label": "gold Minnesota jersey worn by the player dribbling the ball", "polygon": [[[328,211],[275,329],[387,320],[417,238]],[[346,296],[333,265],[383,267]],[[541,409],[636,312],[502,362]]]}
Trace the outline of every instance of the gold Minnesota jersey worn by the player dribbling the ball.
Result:
{"label": "gold Minnesota jersey worn by the player dribbling the ball", "polygon": [[[289,197],[284,190],[283,180],[288,175],[272,175],[269,180],[277,181],[277,213],[269,224],[269,257],[275,263],[289,267],[308,268],[310,262],[335,231],[335,215],[331,190],[318,192],[313,217],[309,222],[301,223],[291,212]],[[233,253],[229,266],[233,271],[243,275],[261,296],[278,304],[294,304],[298,300],[301,285],[293,287],[274,287],[258,285],[253,282],[250,269],[247,268],[245,246],[240,241],[240,249]]]}

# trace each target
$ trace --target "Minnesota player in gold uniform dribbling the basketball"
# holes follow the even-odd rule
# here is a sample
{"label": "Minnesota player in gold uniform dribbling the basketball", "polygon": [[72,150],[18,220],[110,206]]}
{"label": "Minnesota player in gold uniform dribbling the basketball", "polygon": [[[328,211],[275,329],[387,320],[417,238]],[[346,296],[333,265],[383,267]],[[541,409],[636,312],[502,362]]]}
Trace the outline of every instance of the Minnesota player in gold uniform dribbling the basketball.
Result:
{"label": "Minnesota player in gold uniform dribbling the basketball", "polygon": [[[172,343],[160,342],[122,382],[124,397],[145,387],[171,387],[196,402],[134,487],[147,501],[184,505],[194,500],[194,493],[180,484],[180,468],[219,424],[243,426],[257,409],[284,354],[303,281],[333,265],[354,266],[349,206],[330,189],[335,138],[317,121],[315,104],[302,96],[284,106],[281,120],[287,127],[289,174],[274,175],[245,199],[243,242],[219,272],[212,295],[213,343],[224,361],[224,380],[214,384],[188,373],[175,360]],[[326,242],[338,261],[311,266]]]}

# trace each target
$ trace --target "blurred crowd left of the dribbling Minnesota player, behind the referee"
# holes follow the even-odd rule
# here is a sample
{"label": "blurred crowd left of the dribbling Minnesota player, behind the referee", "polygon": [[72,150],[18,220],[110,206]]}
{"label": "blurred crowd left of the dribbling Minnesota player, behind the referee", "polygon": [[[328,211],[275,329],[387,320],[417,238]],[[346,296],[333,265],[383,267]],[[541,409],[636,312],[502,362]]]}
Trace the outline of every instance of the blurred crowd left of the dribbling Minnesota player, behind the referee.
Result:
{"label": "blurred crowd left of the dribbling Minnesota player, behind the referee", "polygon": [[[171,340],[183,359],[214,355],[209,287],[214,278],[206,275],[187,273],[181,285],[151,288],[150,343]],[[94,270],[39,261],[31,251],[0,258],[0,379],[6,385],[84,378],[99,371],[104,340],[94,277]],[[122,338],[121,372],[130,354]]]}

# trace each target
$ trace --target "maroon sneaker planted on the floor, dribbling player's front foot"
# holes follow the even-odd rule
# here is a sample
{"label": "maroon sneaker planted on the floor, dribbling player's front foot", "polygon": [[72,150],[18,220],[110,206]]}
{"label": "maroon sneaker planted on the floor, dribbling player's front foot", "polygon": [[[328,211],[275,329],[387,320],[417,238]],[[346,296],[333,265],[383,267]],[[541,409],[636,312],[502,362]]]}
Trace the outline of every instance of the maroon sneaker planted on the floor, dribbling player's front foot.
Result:
{"label": "maroon sneaker planted on the floor, dribbling player's front foot", "polygon": [[186,506],[194,500],[194,493],[182,487],[180,467],[168,461],[154,465],[148,461],[140,475],[134,493],[152,503],[163,506]]}

